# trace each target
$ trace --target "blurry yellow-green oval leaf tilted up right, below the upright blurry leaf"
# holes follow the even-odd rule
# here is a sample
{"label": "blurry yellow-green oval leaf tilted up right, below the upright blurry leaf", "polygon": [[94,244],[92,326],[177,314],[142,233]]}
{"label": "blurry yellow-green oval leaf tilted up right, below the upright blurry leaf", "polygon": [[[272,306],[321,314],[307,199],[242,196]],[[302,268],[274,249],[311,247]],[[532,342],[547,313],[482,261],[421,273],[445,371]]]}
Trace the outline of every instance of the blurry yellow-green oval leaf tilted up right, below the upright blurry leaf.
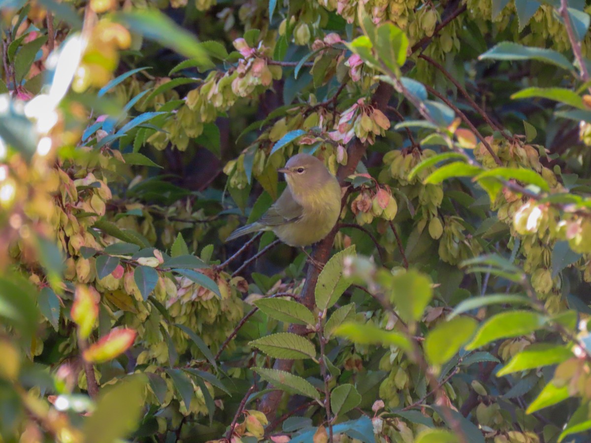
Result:
{"label": "blurry yellow-green oval leaf tilted up right, below the upright blurry leaf", "polygon": [[476,330],[476,320],[456,317],[438,324],[425,338],[424,350],[430,364],[447,363]]}

